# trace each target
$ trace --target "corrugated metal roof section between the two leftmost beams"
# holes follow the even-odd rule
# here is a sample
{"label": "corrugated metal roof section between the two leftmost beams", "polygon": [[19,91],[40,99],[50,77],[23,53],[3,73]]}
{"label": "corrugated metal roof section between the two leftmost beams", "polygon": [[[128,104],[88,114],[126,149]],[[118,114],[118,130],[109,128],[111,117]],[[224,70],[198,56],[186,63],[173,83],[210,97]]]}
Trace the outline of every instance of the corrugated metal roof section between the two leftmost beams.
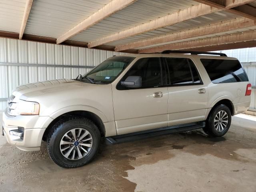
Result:
{"label": "corrugated metal roof section between the two leftmost beams", "polygon": [[58,38],[110,0],[35,0],[25,34]]}

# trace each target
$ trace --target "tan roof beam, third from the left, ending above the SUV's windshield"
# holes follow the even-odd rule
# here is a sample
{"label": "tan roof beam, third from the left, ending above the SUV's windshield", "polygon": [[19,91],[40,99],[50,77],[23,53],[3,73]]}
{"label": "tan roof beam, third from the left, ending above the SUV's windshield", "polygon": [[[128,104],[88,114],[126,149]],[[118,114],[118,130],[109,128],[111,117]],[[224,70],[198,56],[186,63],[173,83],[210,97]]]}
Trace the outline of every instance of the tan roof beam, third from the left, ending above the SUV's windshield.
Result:
{"label": "tan roof beam, third from the left, ending above the SUV's windshield", "polygon": [[113,42],[116,40],[128,38],[130,36],[134,36],[134,35],[138,35],[138,34],[141,34],[144,32],[156,30],[158,28],[173,25],[178,22],[186,21],[186,20],[189,20],[192,18],[197,18],[197,17],[203,16],[203,15],[213,13],[213,12],[218,12],[218,11],[220,11],[220,9],[214,8],[214,7],[205,5],[205,4],[194,5],[189,8],[186,8],[184,10],[180,10],[178,12],[174,12],[167,16],[163,16],[161,18],[152,20],[150,22],[146,22],[144,24],[129,28],[127,30],[117,32],[110,36],[100,38],[96,41],[89,42],[88,48],[92,48],[95,46],[106,44],[108,42]]}

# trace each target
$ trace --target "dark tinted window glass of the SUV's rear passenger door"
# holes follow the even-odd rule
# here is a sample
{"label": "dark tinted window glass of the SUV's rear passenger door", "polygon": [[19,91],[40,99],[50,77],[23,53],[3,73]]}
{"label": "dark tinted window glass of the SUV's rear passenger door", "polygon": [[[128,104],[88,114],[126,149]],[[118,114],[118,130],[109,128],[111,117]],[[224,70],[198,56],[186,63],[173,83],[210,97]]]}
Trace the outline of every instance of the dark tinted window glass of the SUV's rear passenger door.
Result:
{"label": "dark tinted window glass of the SUV's rear passenger door", "polygon": [[188,58],[166,58],[166,63],[171,85],[201,83],[192,60]]}

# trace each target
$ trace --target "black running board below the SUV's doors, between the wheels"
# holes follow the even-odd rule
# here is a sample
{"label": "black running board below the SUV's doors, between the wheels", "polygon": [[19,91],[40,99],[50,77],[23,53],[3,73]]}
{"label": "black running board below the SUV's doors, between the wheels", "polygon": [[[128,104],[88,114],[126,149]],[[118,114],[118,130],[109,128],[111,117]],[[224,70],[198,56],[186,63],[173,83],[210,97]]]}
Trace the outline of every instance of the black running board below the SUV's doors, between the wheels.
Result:
{"label": "black running board below the SUV's doors, between the wheels", "polygon": [[140,139],[146,139],[150,137],[156,137],[160,135],[167,135],[172,133],[186,132],[191,130],[197,130],[205,127],[205,122],[197,122],[190,124],[183,124],[179,126],[170,126],[165,128],[158,128],[153,130],[140,131],[135,133],[117,135],[112,137],[106,137],[106,144],[118,144],[123,142],[135,141]]}

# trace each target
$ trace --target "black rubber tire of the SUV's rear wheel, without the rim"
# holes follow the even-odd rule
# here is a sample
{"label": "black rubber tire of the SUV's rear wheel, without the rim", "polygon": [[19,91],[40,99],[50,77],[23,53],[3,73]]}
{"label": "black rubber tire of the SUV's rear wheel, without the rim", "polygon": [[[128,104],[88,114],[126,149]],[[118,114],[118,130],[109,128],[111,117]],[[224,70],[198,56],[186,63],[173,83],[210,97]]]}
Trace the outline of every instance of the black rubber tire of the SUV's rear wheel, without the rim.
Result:
{"label": "black rubber tire of the SUV's rear wheel, without the rim", "polygon": [[[226,112],[226,114],[228,115],[228,123],[226,124],[226,128],[224,128],[224,130],[219,130],[218,131],[218,130],[216,130],[216,128],[214,126],[214,118],[216,117],[216,115],[220,111]],[[226,134],[226,132],[228,132],[230,124],[231,124],[230,109],[226,105],[220,104],[220,105],[218,105],[218,106],[216,106],[212,109],[211,113],[209,114],[209,116],[206,120],[206,127],[204,127],[203,130],[209,136],[221,137],[221,136],[224,136]]]}

